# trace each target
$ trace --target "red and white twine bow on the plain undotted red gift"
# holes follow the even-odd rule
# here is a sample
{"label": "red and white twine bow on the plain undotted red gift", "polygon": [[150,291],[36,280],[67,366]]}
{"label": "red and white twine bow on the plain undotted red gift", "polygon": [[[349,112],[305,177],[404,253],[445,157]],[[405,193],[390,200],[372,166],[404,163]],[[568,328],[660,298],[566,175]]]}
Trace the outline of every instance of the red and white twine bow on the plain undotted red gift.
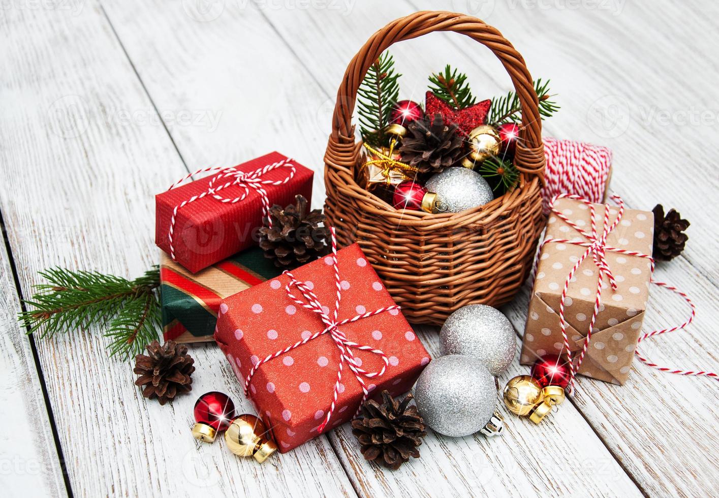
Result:
{"label": "red and white twine bow on the plain undotted red gift", "polygon": [[[282,180],[262,180],[262,176],[265,175],[265,173],[267,173],[268,171],[276,170],[280,167],[286,167],[290,170],[288,172],[288,175]],[[195,202],[196,200],[206,197],[207,195],[210,195],[212,198],[219,200],[221,203],[239,203],[242,202],[242,200],[244,200],[245,198],[247,198],[247,195],[249,195],[249,190],[252,189],[255,190],[255,192],[257,192],[258,194],[260,194],[260,198],[262,199],[262,216],[265,216],[265,218],[267,218],[267,223],[270,228],[272,228],[272,218],[268,216],[268,213],[270,211],[270,199],[267,198],[267,190],[265,190],[264,185],[284,185],[285,183],[288,183],[288,181],[292,180],[292,178],[295,176],[296,168],[291,159],[274,162],[272,164],[266,165],[265,167],[261,167],[255,171],[249,172],[240,171],[237,169],[237,167],[234,166],[227,168],[206,167],[201,170],[197,170],[196,172],[190,173],[189,175],[186,175],[182,179],[173,183],[173,185],[171,185],[168,190],[173,190],[173,188],[177,188],[180,183],[183,183],[189,177],[210,171],[220,172],[218,175],[215,175],[211,178],[211,180],[207,184],[207,190],[205,190],[201,194],[193,195],[187,200],[183,200],[181,203],[175,206],[175,209],[173,209],[173,217],[170,220],[170,229],[168,231],[168,239],[170,240],[170,256],[173,258],[173,260],[175,260],[175,245],[173,241],[173,236],[175,234],[175,220],[177,219],[177,214],[180,209],[187,206],[189,203]],[[229,181],[221,183],[223,180],[226,179],[229,179]],[[217,183],[221,184],[216,185]],[[221,190],[233,186],[242,188],[244,192],[235,197],[224,197],[223,195],[219,194]]]}

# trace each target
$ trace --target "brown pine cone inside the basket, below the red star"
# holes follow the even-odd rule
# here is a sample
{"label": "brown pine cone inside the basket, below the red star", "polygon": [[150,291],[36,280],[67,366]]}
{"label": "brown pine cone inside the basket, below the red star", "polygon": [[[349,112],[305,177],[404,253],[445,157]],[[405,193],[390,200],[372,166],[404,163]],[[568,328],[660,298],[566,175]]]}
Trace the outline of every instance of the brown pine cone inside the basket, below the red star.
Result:
{"label": "brown pine cone inside the basket, below the red star", "polygon": [[437,113],[434,119],[425,117],[409,124],[399,152],[402,161],[419,172],[439,173],[462,159],[464,139],[457,132],[457,124],[445,125]]}

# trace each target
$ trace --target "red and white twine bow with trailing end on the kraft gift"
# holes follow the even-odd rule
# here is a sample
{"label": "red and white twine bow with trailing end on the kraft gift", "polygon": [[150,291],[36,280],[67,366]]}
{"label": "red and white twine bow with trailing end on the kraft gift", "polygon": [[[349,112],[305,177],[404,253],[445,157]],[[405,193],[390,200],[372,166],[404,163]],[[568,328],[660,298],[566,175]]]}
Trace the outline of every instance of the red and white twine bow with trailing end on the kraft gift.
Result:
{"label": "red and white twine bow with trailing end on the kraft gift", "polygon": [[[564,213],[560,212],[556,208],[554,208],[554,203],[560,198],[569,198],[578,200],[581,203],[584,203],[587,208],[590,210],[591,220],[590,220],[590,227],[591,232],[587,233],[582,227],[578,226],[573,221],[569,220],[567,216],[564,216]],[[554,198],[551,200],[551,203],[549,204],[551,211],[564,223],[567,223],[567,225],[571,226],[574,230],[578,231],[586,240],[577,240],[577,239],[545,239],[541,245],[539,246],[539,253],[538,257],[534,262],[534,271],[533,273],[536,275],[536,269],[539,262],[539,254],[541,254],[541,249],[544,247],[544,244],[547,244],[549,242],[552,243],[562,243],[562,244],[573,244],[575,246],[582,246],[586,247],[586,251],[582,254],[582,256],[577,259],[577,262],[574,263],[574,267],[569,271],[569,275],[567,275],[567,279],[564,280],[564,287],[562,288],[562,298],[559,300],[559,325],[562,328],[562,340],[564,341],[563,349],[567,351],[567,358],[569,363],[569,374],[570,374],[570,380],[569,380],[569,392],[572,392],[574,389],[574,377],[576,376],[577,372],[579,371],[580,365],[582,364],[582,361],[584,360],[585,354],[587,353],[587,348],[589,347],[589,343],[592,338],[592,330],[594,329],[595,322],[597,320],[597,315],[600,311],[600,306],[602,303],[602,289],[603,289],[603,280],[606,276],[609,280],[609,285],[612,288],[613,291],[617,289],[617,283],[614,278],[614,275],[609,267],[609,264],[606,259],[606,252],[618,252],[620,254],[627,254],[629,256],[636,256],[641,257],[644,259],[648,259],[651,265],[651,272],[654,272],[654,258],[651,257],[650,254],[644,254],[641,252],[636,251],[629,251],[628,249],[620,249],[617,247],[611,247],[607,245],[607,237],[609,234],[616,228],[616,226],[620,223],[621,218],[624,214],[624,202],[622,198],[620,198],[618,195],[613,195],[612,199],[617,203],[618,205],[618,213],[617,217],[613,222],[610,222],[610,208],[609,206],[605,206],[604,210],[604,219],[600,230],[597,230],[597,213],[595,211],[595,206],[593,203],[591,203],[589,200],[580,197],[579,195],[573,195],[573,194],[559,194],[555,195]],[[594,263],[598,270],[597,275],[597,297],[595,299],[594,303],[594,310],[592,311],[592,318],[590,320],[589,327],[587,328],[587,336],[585,338],[585,341],[582,345],[582,351],[580,352],[580,356],[577,359],[576,364],[572,361],[572,350],[569,349],[569,338],[567,337],[567,321],[564,317],[564,303],[567,300],[567,290],[569,289],[569,283],[572,282],[572,279],[574,278],[574,274],[577,272],[577,269],[579,269],[582,262],[584,262],[587,257],[592,257],[594,260]],[[687,303],[692,308],[692,313],[690,317],[682,323],[679,326],[674,326],[671,328],[664,328],[661,330],[653,331],[650,333],[645,333],[644,335],[640,336],[638,338],[637,343],[643,341],[646,338],[649,338],[651,336],[657,336],[661,333],[667,333],[672,331],[677,331],[679,329],[682,329],[692,323],[695,317],[696,309],[694,306],[694,303],[690,300],[690,298],[687,297],[684,292],[681,292],[677,290],[676,287],[672,287],[671,285],[668,285],[665,282],[656,282],[656,280],[652,280],[656,285],[659,285],[661,287],[665,287],[669,290],[672,290],[682,296],[684,300],[687,301]],[[713,377],[715,379],[719,379],[718,375],[713,372],[694,372],[694,371],[687,371],[687,370],[679,370],[679,369],[672,369],[669,367],[664,366],[658,366],[648,359],[646,359],[644,356],[641,356],[639,351],[635,351],[636,356],[640,361],[642,361],[644,364],[647,364],[649,366],[652,366],[656,369],[661,370],[662,372],[670,372],[672,374],[679,374],[679,375],[703,375],[707,377]]]}

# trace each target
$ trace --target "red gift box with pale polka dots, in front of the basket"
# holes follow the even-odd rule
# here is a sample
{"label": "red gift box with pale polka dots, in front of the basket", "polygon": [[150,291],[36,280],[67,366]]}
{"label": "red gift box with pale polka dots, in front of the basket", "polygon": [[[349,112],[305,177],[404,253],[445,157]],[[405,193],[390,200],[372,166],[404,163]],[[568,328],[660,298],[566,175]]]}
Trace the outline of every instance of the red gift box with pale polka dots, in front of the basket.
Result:
{"label": "red gift box with pale polka dots, in front of the basket", "polygon": [[[336,298],[331,262],[331,257],[318,259],[292,272],[312,288],[319,303],[330,309]],[[357,244],[340,250],[337,262],[342,281],[338,321],[395,304]],[[243,388],[258,359],[325,328],[317,313],[288,297],[285,285],[289,281],[287,275],[280,275],[226,298],[220,306],[215,340]],[[294,295],[301,295],[297,287],[292,290]],[[407,392],[429,363],[429,354],[399,310],[347,323],[340,330],[349,341],[378,348],[389,357],[381,377],[365,378],[368,388],[376,384],[370,397],[379,396],[383,389],[393,395]],[[352,351],[367,372],[378,372],[384,364],[379,355]],[[281,452],[319,435],[317,428],[333,399],[338,366],[339,349],[329,334],[324,334],[267,361],[255,372],[249,397]],[[342,369],[342,384],[344,390],[325,432],[351,420],[362,400],[362,388],[347,365]]]}

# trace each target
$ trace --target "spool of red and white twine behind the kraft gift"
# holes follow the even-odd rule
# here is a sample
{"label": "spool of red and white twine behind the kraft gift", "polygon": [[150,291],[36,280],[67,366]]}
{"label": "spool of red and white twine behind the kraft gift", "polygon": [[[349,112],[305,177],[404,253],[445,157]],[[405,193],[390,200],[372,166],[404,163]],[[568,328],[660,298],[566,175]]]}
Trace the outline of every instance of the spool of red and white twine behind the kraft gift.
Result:
{"label": "spool of red and white twine behind the kraft gift", "polygon": [[555,195],[572,193],[602,203],[612,167],[612,151],[601,145],[544,137],[544,214]]}

